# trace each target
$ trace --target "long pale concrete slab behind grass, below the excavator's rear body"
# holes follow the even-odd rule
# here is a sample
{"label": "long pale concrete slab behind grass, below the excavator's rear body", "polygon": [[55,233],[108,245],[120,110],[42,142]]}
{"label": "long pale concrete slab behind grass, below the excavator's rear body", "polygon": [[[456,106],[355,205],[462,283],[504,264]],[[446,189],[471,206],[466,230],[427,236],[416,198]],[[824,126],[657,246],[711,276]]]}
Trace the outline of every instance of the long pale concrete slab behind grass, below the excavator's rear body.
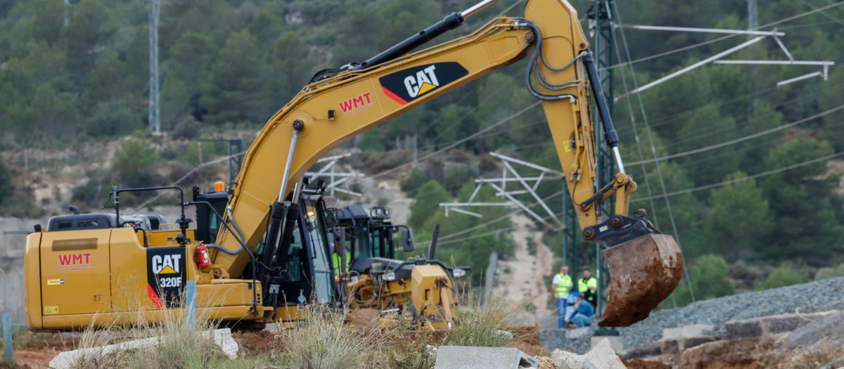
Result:
{"label": "long pale concrete slab behind grass, below the excavator's rear body", "polygon": [[[214,340],[214,344],[218,345],[220,350],[223,350],[223,353],[225,356],[228,356],[229,359],[234,360],[237,358],[237,350],[239,347],[237,342],[235,342],[235,339],[231,337],[231,329],[216,329],[201,332],[199,334],[203,334],[206,337],[210,335]],[[158,345],[158,343],[159,337],[152,337],[143,340],[121,342],[114,345],[92,347],[89,349],[64,351],[50,361],[50,367],[53,369],[69,369],[73,367],[73,364],[79,357],[82,356],[106,356],[118,351],[140,349],[143,347]]]}

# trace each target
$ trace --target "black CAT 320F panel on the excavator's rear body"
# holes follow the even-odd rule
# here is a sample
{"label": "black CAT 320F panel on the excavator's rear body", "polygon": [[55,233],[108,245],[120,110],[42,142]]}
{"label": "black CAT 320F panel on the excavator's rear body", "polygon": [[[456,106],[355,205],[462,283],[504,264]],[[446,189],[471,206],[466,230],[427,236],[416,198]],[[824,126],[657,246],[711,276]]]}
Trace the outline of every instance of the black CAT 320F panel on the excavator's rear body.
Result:
{"label": "black CAT 320F panel on the excavator's rear body", "polygon": [[183,246],[147,249],[147,295],[155,307],[180,307],[185,279]]}

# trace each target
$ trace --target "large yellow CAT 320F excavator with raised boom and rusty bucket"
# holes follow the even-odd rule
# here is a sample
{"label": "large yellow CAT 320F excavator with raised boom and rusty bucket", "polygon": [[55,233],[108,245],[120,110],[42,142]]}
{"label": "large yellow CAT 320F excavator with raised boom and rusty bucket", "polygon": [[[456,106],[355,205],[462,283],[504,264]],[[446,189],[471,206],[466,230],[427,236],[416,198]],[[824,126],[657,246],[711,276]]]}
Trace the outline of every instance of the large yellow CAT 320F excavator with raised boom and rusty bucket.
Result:
{"label": "large yellow CAT 320F excavator with raised boom and rusty bucket", "polygon": [[[647,318],[679,282],[683,259],[674,238],[641,215],[628,216],[636,182],[625,174],[598,71],[571,4],[529,0],[523,18],[492,19],[466,36],[414,51],[491,3],[452,13],[366,61],[317,72],[263,127],[230,190],[217,189],[225,193],[225,206],[182,200],[173,227],[160,217],[122,217],[119,194],[149,189],[115,188],[114,214],[54,217],[46,229],[36,227],[25,244],[29,328],[79,329],[138,311],[160,319],[166,309],[182,308],[188,281],[197,284],[199,309],[221,321],[295,320],[303,304],[331,302],[331,242],[316,227],[324,217],[318,211],[330,206],[304,183],[306,170],[349,138],[523,58],[526,88],[542,101],[582,233],[602,245],[609,265],[609,302],[598,324],[626,326]],[[603,187],[596,179],[590,96],[619,172]],[[609,215],[600,204],[613,196],[614,215],[603,221]],[[188,205],[197,206],[197,217],[200,208],[214,209],[213,224],[198,225],[208,227],[200,233],[217,229],[213,240],[188,227]],[[411,279],[422,266],[432,265],[414,266]],[[285,291],[282,286],[293,283],[291,270],[305,267],[309,272],[295,281],[299,291]],[[427,299],[414,301],[417,313],[438,306],[425,314],[446,319],[441,309],[453,302],[442,291],[452,288],[452,280],[439,269],[418,273],[424,281],[410,288],[424,291],[402,293]]]}

